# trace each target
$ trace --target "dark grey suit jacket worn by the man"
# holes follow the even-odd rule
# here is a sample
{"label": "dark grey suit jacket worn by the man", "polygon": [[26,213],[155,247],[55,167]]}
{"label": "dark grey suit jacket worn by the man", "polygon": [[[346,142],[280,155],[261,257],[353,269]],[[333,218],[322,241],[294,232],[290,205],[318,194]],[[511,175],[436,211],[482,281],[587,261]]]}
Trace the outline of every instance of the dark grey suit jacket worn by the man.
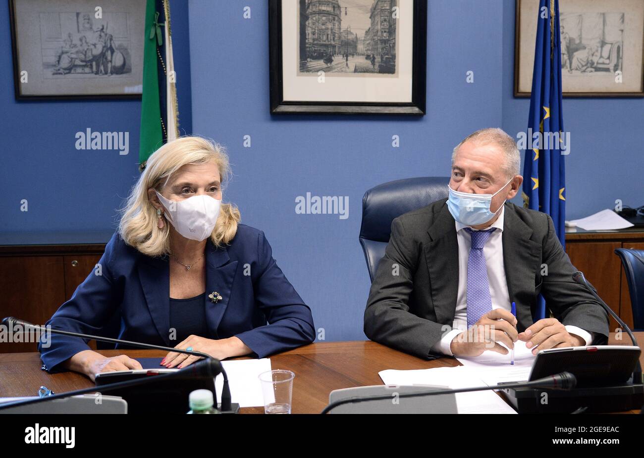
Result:
{"label": "dark grey suit jacket worn by the man", "polygon": [[[421,358],[453,324],[459,288],[459,243],[447,199],[393,220],[392,235],[378,265],[365,310],[365,334]],[[503,261],[517,329],[535,322],[539,293],[555,318],[607,341],[608,316],[591,293],[575,283],[571,264],[549,215],[505,204]],[[548,275],[541,275],[542,264]],[[398,264],[399,275],[392,275]]]}

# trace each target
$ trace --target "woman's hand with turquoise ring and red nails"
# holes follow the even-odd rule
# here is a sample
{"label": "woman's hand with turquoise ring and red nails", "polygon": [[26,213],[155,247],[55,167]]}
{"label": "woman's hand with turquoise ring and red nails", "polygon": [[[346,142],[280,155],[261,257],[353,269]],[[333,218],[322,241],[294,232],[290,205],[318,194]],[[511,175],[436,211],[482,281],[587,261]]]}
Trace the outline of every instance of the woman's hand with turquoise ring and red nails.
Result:
{"label": "woman's hand with turquoise ring and red nails", "polygon": [[[193,347],[193,351],[209,354],[218,360],[252,353],[252,350],[247,347],[242,340],[235,336],[220,340],[207,339],[200,336],[189,336],[184,340],[184,342],[175,346],[175,348],[182,350],[185,350],[188,347]],[[175,353],[171,351],[166,354],[166,358],[163,358],[161,365],[166,366],[168,369],[171,369],[172,367],[182,369],[201,359],[203,359],[201,356],[193,356],[191,354]]]}

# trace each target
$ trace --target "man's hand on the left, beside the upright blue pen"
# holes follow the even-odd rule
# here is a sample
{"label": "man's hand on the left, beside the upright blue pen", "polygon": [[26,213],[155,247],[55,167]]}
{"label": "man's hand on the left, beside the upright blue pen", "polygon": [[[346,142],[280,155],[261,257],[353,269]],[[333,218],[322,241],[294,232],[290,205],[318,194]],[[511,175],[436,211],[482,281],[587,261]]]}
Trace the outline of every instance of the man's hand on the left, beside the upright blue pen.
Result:
{"label": "man's hand on the left, beside the upright blue pen", "polygon": [[479,356],[486,350],[507,354],[507,348],[514,348],[517,338],[516,317],[507,310],[494,309],[457,335],[451,341],[450,349],[454,356]]}

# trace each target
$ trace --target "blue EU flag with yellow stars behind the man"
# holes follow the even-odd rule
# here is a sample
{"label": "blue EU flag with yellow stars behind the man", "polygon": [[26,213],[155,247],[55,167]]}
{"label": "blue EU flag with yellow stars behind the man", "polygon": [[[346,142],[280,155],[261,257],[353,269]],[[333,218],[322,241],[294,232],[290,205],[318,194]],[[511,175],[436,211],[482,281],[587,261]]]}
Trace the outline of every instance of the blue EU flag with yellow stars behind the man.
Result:
{"label": "blue EU flag with yellow stars behind the man", "polygon": [[[524,159],[524,206],[549,214],[565,247],[565,174],[562,144],[562,58],[559,0],[540,0],[536,29],[535,67]],[[567,146],[565,145],[567,152]],[[540,298],[538,316],[545,318]]]}

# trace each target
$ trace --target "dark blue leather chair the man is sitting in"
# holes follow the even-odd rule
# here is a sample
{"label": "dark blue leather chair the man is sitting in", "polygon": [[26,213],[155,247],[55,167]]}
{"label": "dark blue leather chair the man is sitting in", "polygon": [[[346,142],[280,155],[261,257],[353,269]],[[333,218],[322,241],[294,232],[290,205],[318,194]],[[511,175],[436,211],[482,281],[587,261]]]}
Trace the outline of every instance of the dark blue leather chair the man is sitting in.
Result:
{"label": "dark blue leather chair the man is sitting in", "polygon": [[424,176],[389,181],[365,192],[359,238],[371,281],[389,243],[393,219],[444,199],[448,183],[449,177]]}

